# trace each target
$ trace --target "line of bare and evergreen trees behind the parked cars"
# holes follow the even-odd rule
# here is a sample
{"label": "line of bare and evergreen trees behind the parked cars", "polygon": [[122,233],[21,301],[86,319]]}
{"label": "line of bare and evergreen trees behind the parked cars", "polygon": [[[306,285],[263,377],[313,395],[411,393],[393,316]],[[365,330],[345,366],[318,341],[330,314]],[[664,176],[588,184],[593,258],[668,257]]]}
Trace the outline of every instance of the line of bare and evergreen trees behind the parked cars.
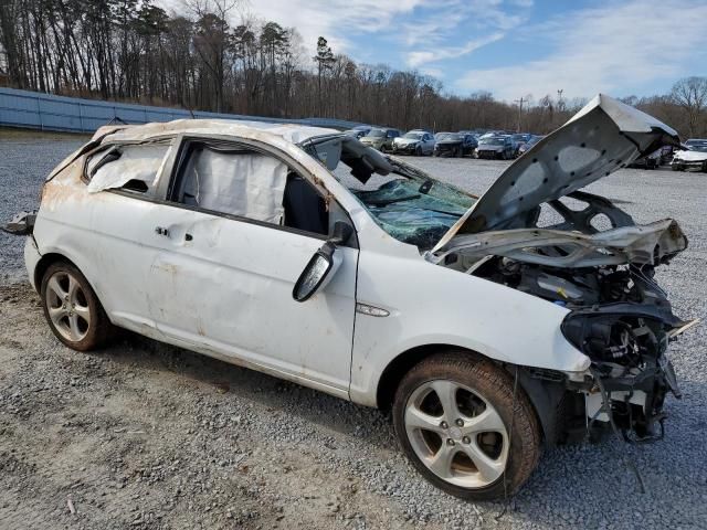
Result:
{"label": "line of bare and evergreen trees behind the parked cars", "polygon": [[[233,1],[233,3],[228,3]],[[294,28],[240,17],[238,0],[188,0],[169,15],[151,0],[0,0],[0,82],[18,88],[279,118],[333,117],[409,129],[544,134],[583,103],[561,91],[516,103],[449,94],[416,71],[357,63],[324,36],[314,56]],[[707,136],[707,78],[627,103]]]}

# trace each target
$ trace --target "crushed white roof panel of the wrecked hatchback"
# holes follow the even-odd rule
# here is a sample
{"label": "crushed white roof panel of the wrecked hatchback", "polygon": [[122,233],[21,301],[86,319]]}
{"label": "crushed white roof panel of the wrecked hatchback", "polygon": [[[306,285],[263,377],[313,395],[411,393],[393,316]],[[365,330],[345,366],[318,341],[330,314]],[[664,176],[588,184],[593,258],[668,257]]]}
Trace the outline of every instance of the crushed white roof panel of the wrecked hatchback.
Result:
{"label": "crushed white roof panel of the wrecked hatchback", "polygon": [[230,119],[176,119],[173,121],[145,125],[108,125],[96,130],[93,139],[97,140],[110,135],[112,140],[140,140],[183,132],[238,135],[246,138],[266,132],[278,136],[292,144],[299,144],[315,136],[339,134],[336,129],[296,124],[267,124],[264,121],[236,121]]}

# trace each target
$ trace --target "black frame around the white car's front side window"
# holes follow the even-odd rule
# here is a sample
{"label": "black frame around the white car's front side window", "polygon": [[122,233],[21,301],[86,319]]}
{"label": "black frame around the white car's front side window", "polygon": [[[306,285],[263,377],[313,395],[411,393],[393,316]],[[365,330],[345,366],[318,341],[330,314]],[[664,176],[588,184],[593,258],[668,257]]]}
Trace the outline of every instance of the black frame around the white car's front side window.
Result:
{"label": "black frame around the white car's front side window", "polygon": [[159,202],[162,205],[168,205],[171,208],[190,210],[193,212],[204,213],[207,215],[223,218],[223,219],[228,219],[228,220],[236,221],[241,223],[255,224],[258,226],[279,230],[283,232],[289,232],[297,235],[304,235],[307,237],[313,237],[313,239],[325,241],[325,242],[329,241],[333,237],[334,234],[331,233],[331,229],[333,229],[331,223],[329,223],[329,233],[325,235],[325,234],[318,234],[316,232],[308,232],[306,230],[295,229],[292,226],[285,226],[283,224],[275,224],[267,221],[260,221],[257,219],[251,219],[244,215],[235,215],[232,213],[219,212],[217,210],[209,210],[203,206],[183,204],[183,203],[171,200],[170,197],[176,190],[175,184],[177,182],[176,179],[179,177],[178,174],[179,169],[181,167],[181,163],[184,161],[184,156],[186,156],[188,145],[192,141],[200,141],[200,142],[213,141],[213,142],[220,142],[220,144],[228,144],[233,147],[241,147],[241,148],[245,147],[250,150],[261,152],[266,156],[271,156],[279,160],[281,162],[287,165],[287,167],[291,170],[295,171],[299,177],[305,179],[307,183],[312,186],[315,189],[315,191],[328,203],[329,214],[331,214],[331,205],[334,204],[334,208],[338,209],[338,211],[346,218],[346,222],[349,224],[349,226],[351,226],[352,229],[351,236],[347,242],[341,243],[338,246],[346,246],[346,247],[356,248],[356,250],[359,248],[359,241],[358,241],[356,224],[351,220],[349,212],[346,210],[346,208],[341,205],[341,203],[336,199],[336,197],[329,190],[327,190],[326,187],[317,186],[312,173],[300,162],[298,162],[292,157],[288,157],[287,153],[285,153],[284,151],[277,148],[274,148],[273,146],[270,146],[265,142],[254,140],[252,138],[242,138],[242,137],[228,136],[228,135],[205,135],[205,134],[198,134],[198,132],[178,135],[176,137],[177,147],[176,149],[172,149],[169,160],[167,160],[167,162],[163,166],[165,178],[160,179],[159,199],[156,202]]}

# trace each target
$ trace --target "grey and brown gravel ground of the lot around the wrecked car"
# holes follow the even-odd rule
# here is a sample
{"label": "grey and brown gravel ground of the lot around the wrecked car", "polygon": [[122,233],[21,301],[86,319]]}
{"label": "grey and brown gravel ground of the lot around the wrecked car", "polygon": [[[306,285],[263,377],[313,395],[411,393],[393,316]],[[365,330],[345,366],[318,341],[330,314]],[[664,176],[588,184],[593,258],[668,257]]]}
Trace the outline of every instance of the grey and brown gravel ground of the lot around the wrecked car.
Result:
{"label": "grey and brown gravel ground of the lot around the wrecked car", "polygon": [[[77,138],[0,137],[0,219],[35,206]],[[409,159],[482,192],[504,162]],[[690,247],[658,274],[676,312],[707,312],[707,176],[622,170],[590,187]],[[422,480],[379,412],[126,335],[73,352],[43,321],[20,239],[0,235],[0,528],[707,528],[705,328],[672,348],[684,398],[665,439],[547,451],[508,512]]]}

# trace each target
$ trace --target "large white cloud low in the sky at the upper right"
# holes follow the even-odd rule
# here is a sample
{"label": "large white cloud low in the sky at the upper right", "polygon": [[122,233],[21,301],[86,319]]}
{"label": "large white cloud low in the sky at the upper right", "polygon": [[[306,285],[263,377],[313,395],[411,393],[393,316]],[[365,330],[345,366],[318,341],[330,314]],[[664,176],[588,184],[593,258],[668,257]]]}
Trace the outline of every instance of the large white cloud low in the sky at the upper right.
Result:
{"label": "large white cloud low in the sky at the upper right", "polygon": [[[473,70],[455,83],[461,92],[489,91],[511,100],[564,91],[566,97],[621,91],[659,78],[695,73],[686,62],[707,45],[707,4],[650,1],[584,9],[524,30],[528,41],[549,40],[555,51],[541,60]],[[703,54],[705,52],[701,52]],[[704,56],[704,55],[703,55]]]}

